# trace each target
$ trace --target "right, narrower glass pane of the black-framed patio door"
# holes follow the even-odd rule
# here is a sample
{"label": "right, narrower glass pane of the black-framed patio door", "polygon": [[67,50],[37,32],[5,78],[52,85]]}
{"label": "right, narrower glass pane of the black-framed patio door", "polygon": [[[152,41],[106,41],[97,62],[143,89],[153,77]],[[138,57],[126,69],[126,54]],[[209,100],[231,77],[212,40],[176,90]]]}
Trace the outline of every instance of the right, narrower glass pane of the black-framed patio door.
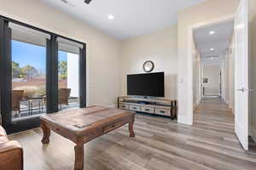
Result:
{"label": "right, narrower glass pane of the black-framed patio door", "polygon": [[59,110],[79,108],[79,49],[83,46],[58,38]]}

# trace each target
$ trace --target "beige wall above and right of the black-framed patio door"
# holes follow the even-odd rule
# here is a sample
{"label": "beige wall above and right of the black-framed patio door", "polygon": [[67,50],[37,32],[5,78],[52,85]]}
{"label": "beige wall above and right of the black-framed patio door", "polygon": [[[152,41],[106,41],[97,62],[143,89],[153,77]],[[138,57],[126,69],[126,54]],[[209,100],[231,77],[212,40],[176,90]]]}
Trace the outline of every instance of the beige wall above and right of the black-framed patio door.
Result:
{"label": "beige wall above and right of the black-framed patio door", "polygon": [[119,90],[120,42],[41,1],[0,0],[0,14],[87,43],[89,104],[113,105]]}

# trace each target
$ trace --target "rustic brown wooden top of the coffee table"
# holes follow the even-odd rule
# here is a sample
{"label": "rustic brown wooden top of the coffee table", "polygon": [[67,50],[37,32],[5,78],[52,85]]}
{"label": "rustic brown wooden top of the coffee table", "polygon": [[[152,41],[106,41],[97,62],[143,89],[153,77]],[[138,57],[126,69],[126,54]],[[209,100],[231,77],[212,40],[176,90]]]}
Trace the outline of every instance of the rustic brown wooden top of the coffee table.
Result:
{"label": "rustic brown wooden top of the coffee table", "polygon": [[41,116],[41,120],[78,132],[88,127],[96,127],[99,124],[113,122],[124,116],[134,116],[134,113],[95,105],[44,115]]}

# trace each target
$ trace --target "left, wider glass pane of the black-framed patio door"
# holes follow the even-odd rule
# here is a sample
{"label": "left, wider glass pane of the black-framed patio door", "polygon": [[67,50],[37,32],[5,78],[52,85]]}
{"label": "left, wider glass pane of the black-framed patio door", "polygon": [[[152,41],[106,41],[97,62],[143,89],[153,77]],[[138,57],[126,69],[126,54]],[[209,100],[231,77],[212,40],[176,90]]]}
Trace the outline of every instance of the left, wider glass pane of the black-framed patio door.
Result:
{"label": "left, wider glass pane of the black-framed patio door", "polygon": [[12,121],[18,121],[46,112],[46,39],[49,35],[43,36],[24,26],[10,24],[10,27]]}

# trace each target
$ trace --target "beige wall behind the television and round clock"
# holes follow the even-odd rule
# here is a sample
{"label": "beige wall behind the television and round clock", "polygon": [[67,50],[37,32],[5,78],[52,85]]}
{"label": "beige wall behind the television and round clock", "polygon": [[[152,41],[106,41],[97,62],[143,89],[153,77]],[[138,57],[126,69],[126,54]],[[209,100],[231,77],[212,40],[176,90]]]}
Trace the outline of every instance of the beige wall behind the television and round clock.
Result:
{"label": "beige wall behind the television and round clock", "polygon": [[143,63],[152,60],[153,72],[165,71],[166,98],[177,99],[177,26],[171,26],[122,42],[120,82],[127,94],[127,74],[143,73]]}

